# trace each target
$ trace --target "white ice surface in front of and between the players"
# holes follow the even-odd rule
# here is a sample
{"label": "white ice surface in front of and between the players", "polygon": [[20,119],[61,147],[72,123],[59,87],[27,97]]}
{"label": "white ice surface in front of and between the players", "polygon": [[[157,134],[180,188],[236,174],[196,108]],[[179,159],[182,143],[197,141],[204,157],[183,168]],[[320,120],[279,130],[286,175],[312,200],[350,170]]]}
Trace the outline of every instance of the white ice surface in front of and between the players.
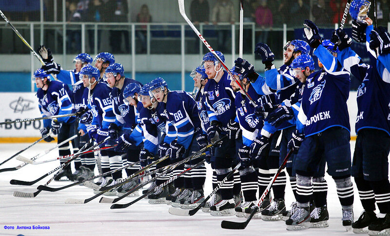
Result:
{"label": "white ice surface in front of and between the players", "polygon": [[[0,162],[11,157],[19,150],[28,146],[27,143],[0,144]],[[43,152],[55,143],[39,143],[23,152],[24,157],[33,157]],[[353,152],[354,142],[351,141]],[[58,151],[47,154],[38,160],[57,157]],[[12,159],[0,166],[15,167],[21,162]],[[215,217],[199,211],[195,216],[173,216],[168,213],[169,206],[165,204],[150,205],[147,199],[142,199],[125,209],[110,209],[111,204],[99,203],[100,197],[86,204],[65,204],[67,198],[85,199],[94,196],[91,189],[84,186],[74,186],[58,192],[42,191],[35,198],[14,197],[14,191],[36,192],[39,184],[45,184],[52,177],[46,177],[33,186],[10,185],[11,179],[31,181],[51,171],[59,165],[59,161],[39,165],[28,164],[17,171],[0,173],[0,235],[66,235],[66,236],[100,236],[100,235],[352,235],[341,225],[341,205],[339,203],[334,181],[326,176],[328,181],[328,211],[329,227],[288,232],[284,221],[269,222],[253,219],[245,230],[225,230],[221,228],[223,219],[243,221],[236,216]],[[205,194],[211,192],[211,168],[207,165]],[[49,186],[60,187],[69,181],[52,181]],[[362,212],[357,190],[355,191],[354,213],[357,219]],[[126,197],[118,203],[127,203],[135,197]],[[286,187],[286,206],[290,209],[292,190]],[[17,226],[49,226],[50,230],[17,230]],[[14,226],[14,230],[4,229],[4,226]]]}

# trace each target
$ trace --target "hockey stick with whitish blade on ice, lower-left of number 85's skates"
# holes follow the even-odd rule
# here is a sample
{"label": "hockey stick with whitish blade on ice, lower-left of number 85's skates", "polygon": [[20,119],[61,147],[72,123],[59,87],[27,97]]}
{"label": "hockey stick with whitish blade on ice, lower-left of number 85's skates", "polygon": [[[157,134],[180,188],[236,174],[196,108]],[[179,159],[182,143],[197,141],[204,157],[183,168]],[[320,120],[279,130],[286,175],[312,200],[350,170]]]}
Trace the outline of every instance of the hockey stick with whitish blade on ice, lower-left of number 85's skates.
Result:
{"label": "hockey stick with whitish blade on ice, lower-left of number 85's skates", "polygon": [[[206,147],[202,148],[201,150],[199,150],[198,152],[196,152],[193,156],[196,156],[198,155],[199,153],[203,153],[204,151],[207,150],[207,148],[210,148],[212,147],[213,145],[215,145],[216,143],[220,142],[222,139],[226,138],[226,136],[216,140],[215,142],[207,145]],[[98,193],[97,195],[93,196],[93,197],[90,197],[90,198],[87,198],[87,199],[75,199],[75,198],[68,198],[65,200],[65,203],[67,204],[85,204],[87,202],[90,202],[91,200],[95,199],[96,197],[99,197],[101,195],[103,195],[104,193],[108,192],[109,190],[113,189],[113,188],[116,188],[116,187],[119,187],[119,186],[122,186],[123,184],[127,183],[127,182],[130,182],[132,181],[132,179],[134,177],[136,177],[137,175],[139,175],[139,173],[142,173],[143,171],[149,169],[151,166],[153,165],[156,165],[158,163],[160,163],[161,161],[167,159],[169,157],[169,155],[166,155],[165,157],[161,157],[159,158],[158,160],[156,160],[155,162],[145,166],[143,169],[137,171],[136,173],[134,173],[132,176],[130,177],[127,177],[125,178],[124,180],[122,180],[121,182],[117,183],[117,184],[114,184],[112,186],[106,186],[106,187],[101,187],[99,189],[99,191],[101,191],[100,193]],[[188,158],[188,157],[187,157]]]}

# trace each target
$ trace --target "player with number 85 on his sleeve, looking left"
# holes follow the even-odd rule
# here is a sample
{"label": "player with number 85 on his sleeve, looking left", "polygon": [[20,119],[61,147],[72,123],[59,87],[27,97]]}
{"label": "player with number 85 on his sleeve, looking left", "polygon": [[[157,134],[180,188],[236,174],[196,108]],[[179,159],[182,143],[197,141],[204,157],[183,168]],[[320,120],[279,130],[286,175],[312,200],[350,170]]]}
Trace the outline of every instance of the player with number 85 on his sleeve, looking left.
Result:
{"label": "player with number 85 on his sleeve, looking left", "polygon": [[[86,108],[82,106],[77,113],[84,113],[80,118],[80,122],[87,126],[88,135],[99,142],[108,137],[108,127],[110,123],[116,121],[110,99],[111,89],[101,81],[99,70],[91,65],[84,66],[79,75],[84,87],[88,87],[84,90],[83,99],[84,104],[88,104],[89,110],[85,112]],[[110,168],[117,169],[122,166],[120,156],[116,152],[102,150],[100,154],[103,173],[109,172]],[[112,177],[103,178],[101,183],[98,183],[101,186],[114,185],[119,178],[121,178],[121,173],[116,172],[112,174]],[[98,193],[98,191],[94,192]],[[108,196],[115,194],[115,190],[105,193]]]}

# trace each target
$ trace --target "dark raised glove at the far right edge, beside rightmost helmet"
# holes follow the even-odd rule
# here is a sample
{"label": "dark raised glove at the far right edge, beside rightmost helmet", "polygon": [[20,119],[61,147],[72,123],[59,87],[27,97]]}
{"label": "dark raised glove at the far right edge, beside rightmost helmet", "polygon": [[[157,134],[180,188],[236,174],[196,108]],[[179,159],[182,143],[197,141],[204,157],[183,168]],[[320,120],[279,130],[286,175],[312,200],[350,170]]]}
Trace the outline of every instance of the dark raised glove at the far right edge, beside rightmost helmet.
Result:
{"label": "dark raised glove at the far right edge, beside rightmost helmet", "polygon": [[379,55],[390,52],[390,34],[384,27],[379,26],[371,31],[370,48],[374,51],[378,48]]}

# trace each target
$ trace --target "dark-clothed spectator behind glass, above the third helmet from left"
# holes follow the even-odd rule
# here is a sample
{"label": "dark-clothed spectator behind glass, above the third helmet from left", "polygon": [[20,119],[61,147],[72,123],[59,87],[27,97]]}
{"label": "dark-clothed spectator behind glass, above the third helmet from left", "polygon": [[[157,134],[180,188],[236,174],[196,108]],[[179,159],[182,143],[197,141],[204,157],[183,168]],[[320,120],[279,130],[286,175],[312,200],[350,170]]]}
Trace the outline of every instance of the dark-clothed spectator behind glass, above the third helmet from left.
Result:
{"label": "dark-clothed spectator behind glass, above the third helmet from left", "polygon": [[[127,6],[127,0],[109,0],[105,4],[105,8],[109,10],[109,21],[111,22],[128,22],[127,14],[129,8]],[[119,53],[122,44],[122,34],[125,43],[126,53],[130,53],[130,41],[128,30],[110,30],[110,46],[112,52]]]}

